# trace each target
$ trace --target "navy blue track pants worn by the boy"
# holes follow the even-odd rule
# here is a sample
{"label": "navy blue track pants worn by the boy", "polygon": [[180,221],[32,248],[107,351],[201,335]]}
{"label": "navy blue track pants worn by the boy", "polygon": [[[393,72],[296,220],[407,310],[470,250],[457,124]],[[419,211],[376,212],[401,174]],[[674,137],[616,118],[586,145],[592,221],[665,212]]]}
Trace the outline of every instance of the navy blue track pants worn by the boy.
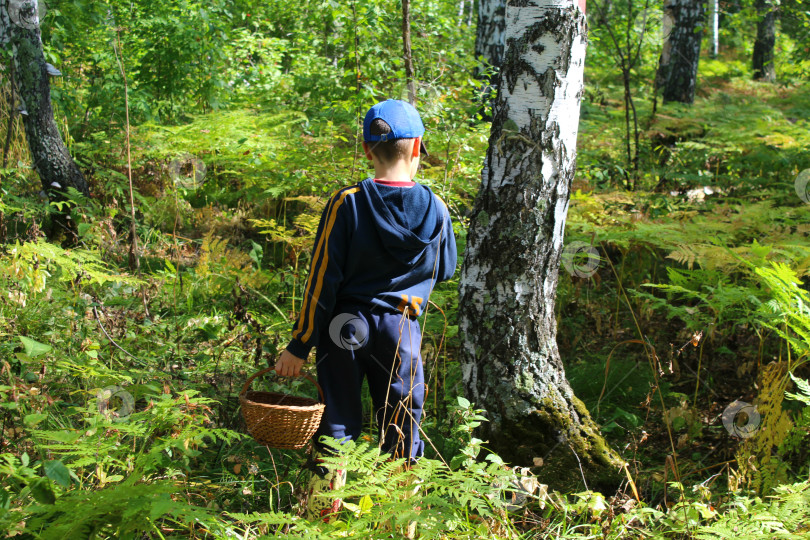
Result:
{"label": "navy blue track pants worn by the boy", "polygon": [[322,435],[359,438],[361,389],[368,378],[382,451],[394,457],[421,457],[425,448],[419,437],[425,402],[421,341],[419,323],[402,313],[337,306],[316,349],[326,408],[315,440]]}

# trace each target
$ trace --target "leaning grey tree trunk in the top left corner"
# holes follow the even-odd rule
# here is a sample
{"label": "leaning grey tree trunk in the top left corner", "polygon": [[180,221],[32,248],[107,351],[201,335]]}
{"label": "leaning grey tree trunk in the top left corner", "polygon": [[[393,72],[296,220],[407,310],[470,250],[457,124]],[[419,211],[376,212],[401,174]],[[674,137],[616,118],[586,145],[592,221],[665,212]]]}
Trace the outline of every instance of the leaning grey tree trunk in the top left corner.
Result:
{"label": "leaning grey tree trunk in the top left corner", "polygon": [[89,195],[84,175],[65,147],[53,117],[36,6],[34,0],[0,2],[0,44],[12,48],[28,148],[42,189],[51,200],[62,200],[69,187]]}

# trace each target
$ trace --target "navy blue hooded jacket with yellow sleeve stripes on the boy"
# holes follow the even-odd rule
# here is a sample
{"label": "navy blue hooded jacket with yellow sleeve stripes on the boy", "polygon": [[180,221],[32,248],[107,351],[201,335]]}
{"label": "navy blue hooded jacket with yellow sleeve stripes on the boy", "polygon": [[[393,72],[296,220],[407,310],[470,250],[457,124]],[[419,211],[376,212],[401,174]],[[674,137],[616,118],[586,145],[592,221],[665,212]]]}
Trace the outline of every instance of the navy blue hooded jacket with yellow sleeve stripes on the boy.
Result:
{"label": "navy blue hooded jacket with yellow sleeve stripes on the boy", "polygon": [[335,306],[418,317],[433,286],[453,277],[455,269],[450,213],[430,188],[391,188],[370,178],[343,188],[321,215],[301,313],[287,350],[306,358],[319,336],[329,331]]}

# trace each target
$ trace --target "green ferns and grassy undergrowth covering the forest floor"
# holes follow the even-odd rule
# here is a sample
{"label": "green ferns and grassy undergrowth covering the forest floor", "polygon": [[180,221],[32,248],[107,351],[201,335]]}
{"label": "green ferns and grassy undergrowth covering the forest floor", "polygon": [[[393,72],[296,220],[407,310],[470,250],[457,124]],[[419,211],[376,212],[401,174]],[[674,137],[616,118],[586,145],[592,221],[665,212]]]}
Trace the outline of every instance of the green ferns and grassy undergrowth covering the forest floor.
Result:
{"label": "green ferns and grassy undergrowth covering the forest floor", "polygon": [[[266,50],[240,39],[240,50]],[[430,54],[469,65],[457,50]],[[282,56],[263,61],[283,66]],[[366,396],[366,435],[341,447],[346,504],[321,523],[301,517],[305,454],[247,436],[238,394],[286,345],[328,195],[369,174],[356,109],[380,90],[328,70],[313,68],[309,83],[289,73],[251,72],[260,99],[242,89],[231,107],[133,127],[140,272],[128,266],[123,134],[82,125],[73,141],[93,196],[72,194],[79,245],[63,248],[45,239],[55,209],[15,131],[0,199],[6,536],[810,533],[810,225],[794,187],[810,168],[807,85],[754,84],[733,55],[706,58],[691,108],[637,103],[636,172],[620,85],[589,64],[566,243],[596,262],[587,276],[580,259],[560,274],[558,342],[576,395],[627,463],[619,491],[592,491],[584,477],[555,490],[542,456],[506,464],[476,438],[487,419],[461,397],[456,276],[424,321],[426,457],[407,469],[380,456]],[[448,203],[461,253],[489,125],[473,121],[475,81],[431,75],[420,181]],[[345,95],[318,106],[332,83]],[[55,99],[68,113],[77,105]],[[314,395],[300,380],[254,385]]]}

